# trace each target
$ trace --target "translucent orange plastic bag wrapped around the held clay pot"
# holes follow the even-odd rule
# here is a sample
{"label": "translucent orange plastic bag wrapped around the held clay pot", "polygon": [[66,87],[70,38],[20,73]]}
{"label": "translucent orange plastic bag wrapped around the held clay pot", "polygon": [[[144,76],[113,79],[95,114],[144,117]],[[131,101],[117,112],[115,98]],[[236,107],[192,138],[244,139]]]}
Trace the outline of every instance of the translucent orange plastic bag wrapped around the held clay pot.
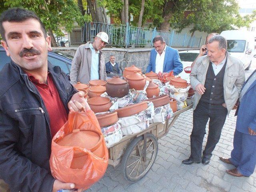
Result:
{"label": "translucent orange plastic bag wrapped around the held clay pot", "polygon": [[[102,140],[103,158],[99,158],[89,150],[80,147],[60,146],[57,144],[66,134],[74,129],[94,130],[102,135],[98,120],[92,110],[87,112],[70,112],[68,121],[60,128],[52,139],[50,169],[52,176],[62,182],[74,183],[76,188],[88,189],[100,180],[108,166],[108,149]],[[88,141],[90,142],[90,141]],[[75,152],[82,152],[86,156],[85,164],[81,169],[70,168]]]}

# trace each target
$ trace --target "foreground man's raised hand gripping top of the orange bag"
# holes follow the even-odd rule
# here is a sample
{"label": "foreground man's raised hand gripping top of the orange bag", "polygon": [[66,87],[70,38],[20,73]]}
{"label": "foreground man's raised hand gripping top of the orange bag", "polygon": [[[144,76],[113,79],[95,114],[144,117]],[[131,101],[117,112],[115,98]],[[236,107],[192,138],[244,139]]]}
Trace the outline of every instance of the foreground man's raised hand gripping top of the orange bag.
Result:
{"label": "foreground man's raised hand gripping top of the orange bag", "polygon": [[90,106],[87,100],[84,98],[84,92],[79,91],[75,93],[68,102],[68,108],[70,111],[87,111],[90,110]]}

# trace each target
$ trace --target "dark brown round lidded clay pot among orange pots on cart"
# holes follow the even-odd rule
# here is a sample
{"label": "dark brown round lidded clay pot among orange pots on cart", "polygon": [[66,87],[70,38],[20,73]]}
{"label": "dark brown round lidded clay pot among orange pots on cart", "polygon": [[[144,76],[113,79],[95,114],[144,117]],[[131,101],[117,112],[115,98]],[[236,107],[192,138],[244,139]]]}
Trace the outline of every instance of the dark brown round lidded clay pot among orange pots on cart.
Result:
{"label": "dark brown round lidded clay pot among orange pots on cart", "polygon": [[107,80],[106,92],[110,97],[122,98],[129,93],[128,80],[120,79],[115,76]]}

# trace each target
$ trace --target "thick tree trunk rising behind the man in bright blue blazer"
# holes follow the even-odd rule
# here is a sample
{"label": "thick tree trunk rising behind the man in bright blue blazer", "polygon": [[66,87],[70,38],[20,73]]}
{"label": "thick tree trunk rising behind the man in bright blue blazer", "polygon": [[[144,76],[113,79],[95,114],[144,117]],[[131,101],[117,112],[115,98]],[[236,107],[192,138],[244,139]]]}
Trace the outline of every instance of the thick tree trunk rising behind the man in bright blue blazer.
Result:
{"label": "thick tree trunk rising behind the man in bright blue blazer", "polygon": [[163,9],[163,14],[162,14],[162,18],[164,18],[164,22],[161,23],[160,25],[160,30],[162,31],[169,31],[170,28],[170,18],[172,16],[172,11],[174,8],[174,3],[177,4],[177,0],[165,0],[165,4],[164,4],[164,9]]}

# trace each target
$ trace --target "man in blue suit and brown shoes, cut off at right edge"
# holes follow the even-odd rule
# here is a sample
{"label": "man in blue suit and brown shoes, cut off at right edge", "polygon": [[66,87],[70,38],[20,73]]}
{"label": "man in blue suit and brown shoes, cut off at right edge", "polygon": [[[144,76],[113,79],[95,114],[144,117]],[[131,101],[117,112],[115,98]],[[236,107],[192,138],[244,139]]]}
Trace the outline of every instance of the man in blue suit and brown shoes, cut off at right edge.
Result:
{"label": "man in blue suit and brown shoes, cut off at right edge", "polygon": [[[232,176],[250,176],[256,165],[256,70],[245,82],[236,110],[236,130],[231,158],[220,157],[236,168],[226,170]],[[235,115],[236,115],[235,114]]]}

